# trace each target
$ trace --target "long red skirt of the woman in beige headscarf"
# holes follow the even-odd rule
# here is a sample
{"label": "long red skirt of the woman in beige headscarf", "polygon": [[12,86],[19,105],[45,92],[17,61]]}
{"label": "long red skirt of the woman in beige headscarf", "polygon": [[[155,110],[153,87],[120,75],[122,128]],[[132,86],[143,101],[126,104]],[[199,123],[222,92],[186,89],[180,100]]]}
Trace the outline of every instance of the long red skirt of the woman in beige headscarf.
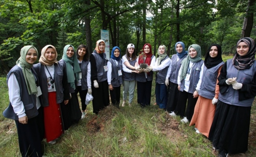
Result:
{"label": "long red skirt of the woman in beige headscarf", "polygon": [[49,106],[44,107],[44,137],[47,142],[53,141],[63,133],[60,104],[56,102],[56,92],[48,92]]}

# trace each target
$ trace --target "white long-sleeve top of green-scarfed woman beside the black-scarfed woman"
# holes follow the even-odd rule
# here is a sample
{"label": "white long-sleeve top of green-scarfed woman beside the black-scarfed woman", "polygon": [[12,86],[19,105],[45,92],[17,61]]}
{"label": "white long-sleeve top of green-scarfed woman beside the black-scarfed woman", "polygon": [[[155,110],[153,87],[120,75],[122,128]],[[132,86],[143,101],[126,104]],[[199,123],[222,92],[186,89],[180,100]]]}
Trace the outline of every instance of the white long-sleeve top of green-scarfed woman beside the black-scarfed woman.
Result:
{"label": "white long-sleeve top of green-scarfed woman beside the black-scarfed woman", "polygon": [[[187,69],[187,72],[189,72],[188,70],[189,69],[192,69],[192,67],[194,66],[194,62],[189,62],[189,68]],[[201,71],[199,73],[199,80],[200,78],[203,76],[203,67],[204,67],[204,64],[202,64],[201,66]],[[179,75],[178,75],[178,78],[177,78],[177,83],[178,85],[180,86],[181,85],[181,69],[183,68],[183,65],[181,64],[181,68],[179,68]],[[189,81],[186,81],[185,80],[185,86],[184,86],[184,90],[188,92],[188,89],[189,89],[189,85],[190,85],[190,80]],[[197,82],[197,85],[196,85],[196,90],[200,89],[200,86],[201,86],[201,82],[199,83],[199,81]]]}

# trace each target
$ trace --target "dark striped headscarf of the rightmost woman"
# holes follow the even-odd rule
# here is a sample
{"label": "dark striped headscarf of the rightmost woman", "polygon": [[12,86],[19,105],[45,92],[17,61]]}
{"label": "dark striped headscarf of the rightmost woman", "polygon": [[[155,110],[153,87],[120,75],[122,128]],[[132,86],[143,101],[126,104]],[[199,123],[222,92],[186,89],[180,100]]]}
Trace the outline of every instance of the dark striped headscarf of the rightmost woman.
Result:
{"label": "dark striped headscarf of the rightmost woman", "polygon": [[249,69],[255,60],[255,51],[256,44],[252,38],[245,37],[238,40],[236,47],[240,42],[245,42],[247,46],[249,46],[249,51],[245,56],[238,55],[237,51],[232,59],[232,64],[236,67],[236,69]]}

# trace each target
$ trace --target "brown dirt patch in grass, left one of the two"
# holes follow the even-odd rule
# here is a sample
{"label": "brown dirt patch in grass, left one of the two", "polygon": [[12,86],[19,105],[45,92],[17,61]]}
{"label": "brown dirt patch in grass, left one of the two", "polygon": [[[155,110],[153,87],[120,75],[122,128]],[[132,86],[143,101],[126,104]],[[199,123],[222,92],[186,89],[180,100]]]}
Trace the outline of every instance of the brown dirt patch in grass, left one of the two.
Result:
{"label": "brown dirt patch in grass, left one of the two", "polygon": [[88,133],[103,131],[105,129],[105,125],[108,124],[108,122],[116,115],[117,110],[119,109],[110,105],[99,111],[99,114],[94,115],[92,119],[87,123]]}

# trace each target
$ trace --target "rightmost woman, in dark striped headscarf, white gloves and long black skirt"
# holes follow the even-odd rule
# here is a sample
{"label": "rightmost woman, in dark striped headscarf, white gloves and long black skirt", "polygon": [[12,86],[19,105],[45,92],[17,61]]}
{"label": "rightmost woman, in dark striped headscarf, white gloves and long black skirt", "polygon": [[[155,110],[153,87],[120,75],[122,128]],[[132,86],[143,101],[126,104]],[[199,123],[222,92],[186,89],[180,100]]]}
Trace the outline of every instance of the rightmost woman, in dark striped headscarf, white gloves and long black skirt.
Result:
{"label": "rightmost woman, in dark striped headscarf, white gloves and long black skirt", "polygon": [[251,106],[256,96],[256,44],[252,38],[238,40],[236,53],[221,68],[219,100],[209,133],[219,157],[248,149]]}

